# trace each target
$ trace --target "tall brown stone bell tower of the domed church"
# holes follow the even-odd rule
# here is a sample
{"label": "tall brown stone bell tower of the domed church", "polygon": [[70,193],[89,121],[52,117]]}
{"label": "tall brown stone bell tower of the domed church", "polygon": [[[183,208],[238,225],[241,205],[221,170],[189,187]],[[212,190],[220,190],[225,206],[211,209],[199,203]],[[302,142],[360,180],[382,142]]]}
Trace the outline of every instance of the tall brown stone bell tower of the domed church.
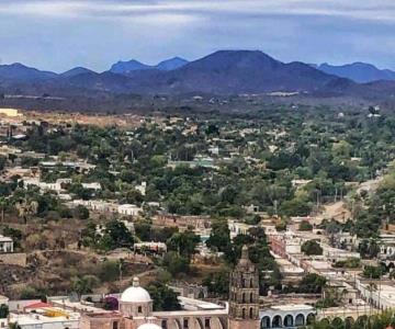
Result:
{"label": "tall brown stone bell tower of the domed church", "polygon": [[259,328],[259,274],[248,257],[248,247],[241,249],[241,258],[230,273],[229,328]]}

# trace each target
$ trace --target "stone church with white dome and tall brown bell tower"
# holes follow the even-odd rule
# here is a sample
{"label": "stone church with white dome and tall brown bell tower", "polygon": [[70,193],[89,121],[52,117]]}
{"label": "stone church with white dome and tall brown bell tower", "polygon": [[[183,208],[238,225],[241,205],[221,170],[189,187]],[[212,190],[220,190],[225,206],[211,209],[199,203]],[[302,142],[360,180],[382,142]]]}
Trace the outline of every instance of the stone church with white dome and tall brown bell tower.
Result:
{"label": "stone church with white dome and tall brown bell tower", "polygon": [[241,258],[230,274],[229,300],[217,305],[199,299],[180,298],[181,310],[154,311],[149,293],[135,277],[120,298],[113,313],[81,316],[81,329],[258,329],[259,276],[242,247]]}

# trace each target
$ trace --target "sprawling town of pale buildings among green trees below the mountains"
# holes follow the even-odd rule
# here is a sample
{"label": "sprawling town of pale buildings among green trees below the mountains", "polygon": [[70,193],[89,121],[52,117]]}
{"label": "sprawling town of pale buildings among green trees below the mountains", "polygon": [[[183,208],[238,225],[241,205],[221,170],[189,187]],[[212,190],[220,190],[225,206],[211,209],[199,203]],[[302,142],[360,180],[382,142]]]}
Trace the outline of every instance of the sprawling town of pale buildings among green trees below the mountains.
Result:
{"label": "sprawling town of pale buildings among green trees below the mountains", "polygon": [[0,328],[395,326],[394,116],[272,106],[0,109]]}

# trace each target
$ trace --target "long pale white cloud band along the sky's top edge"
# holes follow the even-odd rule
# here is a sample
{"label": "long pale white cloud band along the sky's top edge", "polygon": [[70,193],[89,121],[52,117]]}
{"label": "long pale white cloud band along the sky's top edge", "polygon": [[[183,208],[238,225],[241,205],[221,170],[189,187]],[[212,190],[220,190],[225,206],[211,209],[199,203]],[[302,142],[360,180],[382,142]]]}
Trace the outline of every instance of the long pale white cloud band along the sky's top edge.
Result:
{"label": "long pale white cloud band along the sky's top edge", "polygon": [[[395,3],[388,0],[3,0],[0,13],[55,18],[148,18],[158,13],[178,18],[238,15],[329,15],[395,22]],[[180,16],[181,15],[181,16]]]}

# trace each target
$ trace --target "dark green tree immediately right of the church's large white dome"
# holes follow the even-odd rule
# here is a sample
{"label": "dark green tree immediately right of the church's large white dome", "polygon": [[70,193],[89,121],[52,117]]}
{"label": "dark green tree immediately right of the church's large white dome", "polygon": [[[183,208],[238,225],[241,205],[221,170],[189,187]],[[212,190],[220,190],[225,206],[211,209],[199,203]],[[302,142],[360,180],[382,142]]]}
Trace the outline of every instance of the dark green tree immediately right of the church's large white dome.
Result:
{"label": "dark green tree immediately right of the church's large white dome", "polygon": [[181,309],[177,294],[163,283],[154,282],[147,286],[147,291],[154,300],[154,311]]}

